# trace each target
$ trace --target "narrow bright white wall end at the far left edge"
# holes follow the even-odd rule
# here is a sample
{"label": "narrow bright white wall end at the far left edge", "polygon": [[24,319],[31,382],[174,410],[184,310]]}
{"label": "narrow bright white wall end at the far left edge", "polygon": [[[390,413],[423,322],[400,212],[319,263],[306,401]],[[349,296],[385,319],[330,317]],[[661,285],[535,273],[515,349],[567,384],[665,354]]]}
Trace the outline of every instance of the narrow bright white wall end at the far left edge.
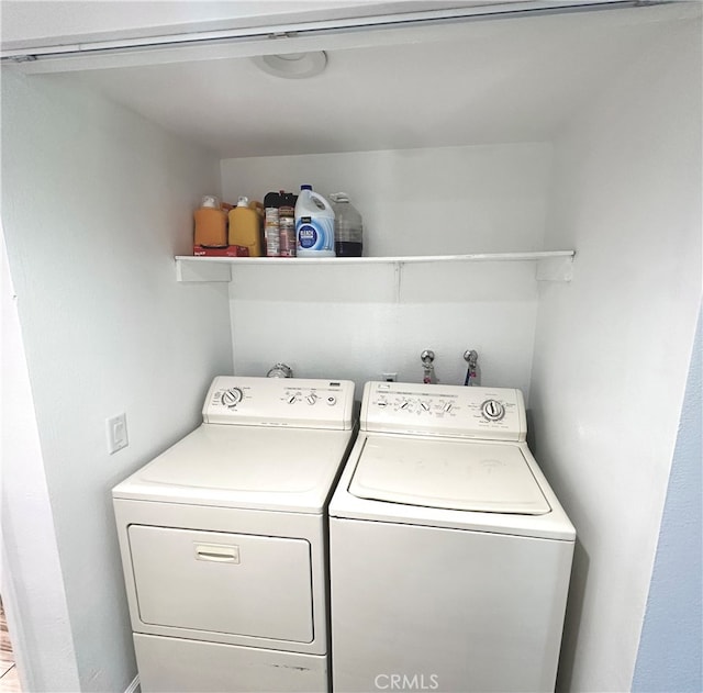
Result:
{"label": "narrow bright white wall end at the far left edge", "polygon": [[2,238],[0,565],[23,691],[77,691],[78,669],[14,288]]}

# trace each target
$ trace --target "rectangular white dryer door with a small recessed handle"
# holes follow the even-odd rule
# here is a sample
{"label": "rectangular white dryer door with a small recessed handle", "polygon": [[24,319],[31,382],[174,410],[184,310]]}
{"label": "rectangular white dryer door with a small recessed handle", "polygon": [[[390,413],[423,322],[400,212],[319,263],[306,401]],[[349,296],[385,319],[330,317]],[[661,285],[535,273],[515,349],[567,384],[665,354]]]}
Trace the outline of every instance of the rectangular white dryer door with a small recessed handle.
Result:
{"label": "rectangular white dryer door with a small recessed handle", "polygon": [[145,525],[129,537],[144,624],[313,640],[305,539]]}

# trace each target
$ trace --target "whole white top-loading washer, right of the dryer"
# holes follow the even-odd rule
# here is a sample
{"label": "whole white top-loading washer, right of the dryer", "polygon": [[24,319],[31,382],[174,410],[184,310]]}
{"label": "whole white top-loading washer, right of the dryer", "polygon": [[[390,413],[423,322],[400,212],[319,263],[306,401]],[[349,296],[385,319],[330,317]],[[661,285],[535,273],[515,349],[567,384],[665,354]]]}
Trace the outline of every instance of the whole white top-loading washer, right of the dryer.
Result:
{"label": "whole white top-loading washer, right of the dryer", "polygon": [[370,382],[330,503],[335,693],[554,690],[576,532],[522,393]]}

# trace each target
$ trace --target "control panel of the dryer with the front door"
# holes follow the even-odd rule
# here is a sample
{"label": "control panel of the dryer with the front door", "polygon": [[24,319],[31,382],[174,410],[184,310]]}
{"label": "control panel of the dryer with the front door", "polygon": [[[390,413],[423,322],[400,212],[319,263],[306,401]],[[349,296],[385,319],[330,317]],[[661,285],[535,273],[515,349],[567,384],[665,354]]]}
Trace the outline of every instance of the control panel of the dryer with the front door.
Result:
{"label": "control panel of the dryer with the front door", "polygon": [[349,431],[350,380],[220,376],[202,410],[207,424]]}

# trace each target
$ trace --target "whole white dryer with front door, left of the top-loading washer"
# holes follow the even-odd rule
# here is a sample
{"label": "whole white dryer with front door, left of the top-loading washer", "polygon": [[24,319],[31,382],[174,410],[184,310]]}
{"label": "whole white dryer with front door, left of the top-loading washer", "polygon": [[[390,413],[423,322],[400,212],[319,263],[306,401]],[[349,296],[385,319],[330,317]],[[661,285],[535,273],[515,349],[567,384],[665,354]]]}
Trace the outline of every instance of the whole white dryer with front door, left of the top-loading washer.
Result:
{"label": "whole white dryer with front door, left of the top-loading washer", "polygon": [[354,383],[216,378],[112,490],[143,693],[327,691],[326,505]]}

